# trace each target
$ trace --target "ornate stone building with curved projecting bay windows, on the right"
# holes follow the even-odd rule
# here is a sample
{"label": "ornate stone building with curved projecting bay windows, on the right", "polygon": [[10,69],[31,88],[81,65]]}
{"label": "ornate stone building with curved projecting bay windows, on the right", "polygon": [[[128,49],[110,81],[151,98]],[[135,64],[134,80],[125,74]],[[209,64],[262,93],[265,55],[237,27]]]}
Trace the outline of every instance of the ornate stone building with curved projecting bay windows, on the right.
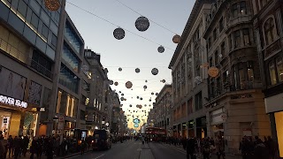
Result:
{"label": "ornate stone building with curved projecting bay windows, on the right", "polygon": [[251,1],[215,1],[203,34],[210,68],[209,96],[204,104],[209,136],[226,140],[226,151],[238,153],[243,136],[271,135],[256,54]]}

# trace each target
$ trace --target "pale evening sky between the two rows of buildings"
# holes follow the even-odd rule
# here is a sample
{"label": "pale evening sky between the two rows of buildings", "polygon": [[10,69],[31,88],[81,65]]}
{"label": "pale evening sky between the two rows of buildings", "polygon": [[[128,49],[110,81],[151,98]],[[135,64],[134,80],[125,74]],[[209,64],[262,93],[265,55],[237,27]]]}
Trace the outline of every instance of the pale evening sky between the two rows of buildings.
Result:
{"label": "pale evening sky between the two rows of buildings", "polygon": [[[172,37],[182,34],[194,4],[195,0],[67,0],[66,11],[84,39],[85,48],[101,55],[108,78],[119,83],[111,88],[126,98],[120,102],[128,127],[134,126],[133,116],[146,122],[145,115],[153,108],[156,93],[172,83],[168,65],[177,47]],[[149,19],[149,29],[144,32],[134,25],[141,16]],[[113,36],[118,27],[126,32],[122,40]],[[157,51],[160,45],[164,46],[164,53]],[[141,72],[136,73],[136,68]],[[151,73],[153,68],[158,69],[157,75]],[[165,83],[160,81],[163,79]],[[131,81],[133,87],[126,88],[126,81]],[[137,104],[142,104],[142,109]]]}

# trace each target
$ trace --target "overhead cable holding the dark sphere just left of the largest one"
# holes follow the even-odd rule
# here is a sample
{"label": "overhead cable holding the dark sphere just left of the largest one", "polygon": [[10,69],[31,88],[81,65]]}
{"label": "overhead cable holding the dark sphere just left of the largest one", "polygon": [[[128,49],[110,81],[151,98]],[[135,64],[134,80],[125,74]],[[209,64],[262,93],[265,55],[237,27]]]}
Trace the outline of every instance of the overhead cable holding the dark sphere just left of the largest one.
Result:
{"label": "overhead cable holding the dark sphere just left of the largest one", "polygon": [[[78,8],[78,9],[80,9],[80,10],[82,10],[82,11],[88,12],[89,14],[95,16],[95,17],[98,18],[98,19],[102,19],[102,20],[104,20],[104,21],[110,23],[110,24],[113,25],[113,26],[119,27],[119,25],[116,25],[116,24],[112,23],[111,21],[109,21],[109,20],[107,20],[107,19],[103,19],[102,17],[97,16],[95,13],[93,13],[93,12],[91,12],[91,11],[88,11],[88,10],[85,10],[85,9],[81,8],[80,6],[78,6],[78,5],[76,5],[76,4],[73,4],[73,3],[70,3],[70,2],[67,2],[67,4],[71,4],[71,5],[73,5],[74,7]],[[144,40],[147,40],[147,41],[149,41],[149,42],[156,43],[157,45],[162,45],[162,44],[160,44],[160,43],[158,43],[158,42],[154,42],[154,41],[150,40],[149,38],[143,37],[143,36],[140,35],[140,34],[135,34],[134,32],[132,32],[132,31],[130,31],[130,30],[124,28],[124,27],[121,27],[121,28],[125,29],[127,32],[129,32],[129,33],[131,33],[131,34],[134,34],[134,35],[136,35],[136,36],[141,37],[141,38],[144,39]],[[164,45],[162,45],[162,46],[163,46],[164,48],[166,48],[166,49],[171,49],[171,48],[166,47],[166,46],[164,46]],[[171,49],[171,50],[174,51],[174,49]]]}

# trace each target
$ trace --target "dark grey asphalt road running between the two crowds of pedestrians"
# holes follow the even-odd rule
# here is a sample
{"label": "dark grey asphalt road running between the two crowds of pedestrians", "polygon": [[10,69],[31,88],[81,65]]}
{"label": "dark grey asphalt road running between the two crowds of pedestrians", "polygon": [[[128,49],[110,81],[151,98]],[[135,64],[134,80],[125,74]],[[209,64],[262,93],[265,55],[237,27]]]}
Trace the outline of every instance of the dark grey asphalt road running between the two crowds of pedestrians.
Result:
{"label": "dark grey asphalt road running between the two crowds of pedestrians", "polygon": [[[54,159],[69,158],[69,159],[186,159],[187,153],[181,146],[173,146],[164,143],[149,142],[142,145],[141,140],[127,140],[123,143],[112,144],[112,148],[105,151],[88,150],[84,155],[80,153],[68,155],[65,157],[54,157]],[[25,158],[28,159],[29,155]],[[34,157],[37,158],[37,157]],[[46,159],[42,155],[42,159]],[[202,155],[198,159],[203,159]],[[210,159],[217,159],[216,155],[212,155]],[[226,155],[226,159],[241,159],[240,155]]]}

